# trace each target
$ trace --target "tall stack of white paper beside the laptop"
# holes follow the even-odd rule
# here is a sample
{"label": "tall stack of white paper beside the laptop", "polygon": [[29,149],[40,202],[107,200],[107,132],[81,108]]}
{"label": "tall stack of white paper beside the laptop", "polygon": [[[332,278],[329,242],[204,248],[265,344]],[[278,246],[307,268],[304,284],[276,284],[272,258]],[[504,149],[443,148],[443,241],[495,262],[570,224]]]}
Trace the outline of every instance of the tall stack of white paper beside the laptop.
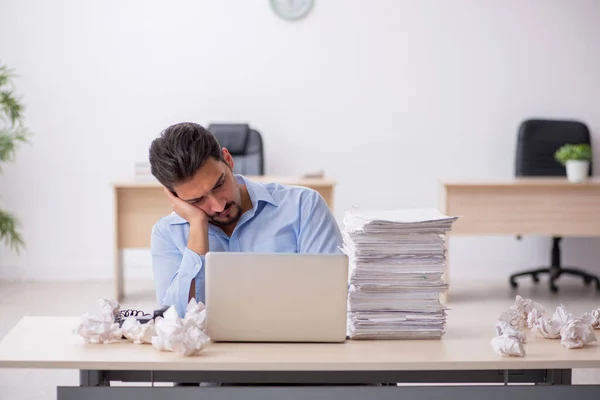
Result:
{"label": "tall stack of white paper beside the laptop", "polygon": [[456,219],[430,208],[346,213],[351,339],[442,337],[445,235]]}

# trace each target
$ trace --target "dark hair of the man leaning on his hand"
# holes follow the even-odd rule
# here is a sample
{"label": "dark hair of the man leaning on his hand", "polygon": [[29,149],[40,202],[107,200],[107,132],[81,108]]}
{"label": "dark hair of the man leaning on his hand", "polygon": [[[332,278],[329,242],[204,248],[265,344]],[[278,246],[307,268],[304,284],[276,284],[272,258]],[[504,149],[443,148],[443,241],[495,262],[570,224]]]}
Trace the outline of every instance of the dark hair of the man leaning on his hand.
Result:
{"label": "dark hair of the man leaning on his hand", "polygon": [[182,122],[171,125],[152,141],[150,171],[173,190],[174,185],[191,179],[209,157],[222,160],[217,138],[198,124]]}

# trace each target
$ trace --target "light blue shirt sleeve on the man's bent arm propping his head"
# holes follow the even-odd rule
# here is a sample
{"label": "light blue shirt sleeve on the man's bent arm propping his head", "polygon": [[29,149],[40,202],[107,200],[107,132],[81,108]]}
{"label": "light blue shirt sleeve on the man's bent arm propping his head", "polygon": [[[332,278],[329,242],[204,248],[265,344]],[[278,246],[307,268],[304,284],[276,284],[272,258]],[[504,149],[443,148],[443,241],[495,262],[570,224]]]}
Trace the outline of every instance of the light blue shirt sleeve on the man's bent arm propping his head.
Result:
{"label": "light blue shirt sleeve on the man's bent arm propping his head", "polygon": [[150,240],[156,301],[160,306],[174,306],[184,317],[190,285],[204,265],[204,256],[187,247],[181,252],[164,229],[159,221]]}

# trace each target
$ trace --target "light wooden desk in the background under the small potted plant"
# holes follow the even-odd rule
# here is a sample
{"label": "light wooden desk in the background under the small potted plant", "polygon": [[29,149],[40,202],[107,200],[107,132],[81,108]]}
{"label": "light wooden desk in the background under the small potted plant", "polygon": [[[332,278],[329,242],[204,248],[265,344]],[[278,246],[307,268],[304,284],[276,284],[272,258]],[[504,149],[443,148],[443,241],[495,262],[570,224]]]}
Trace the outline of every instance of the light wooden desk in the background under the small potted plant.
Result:
{"label": "light wooden desk in the background under the small potted plant", "polygon": [[[456,235],[600,236],[600,179],[517,178],[442,182],[442,209]],[[447,242],[448,243],[448,242]],[[449,281],[448,266],[446,280]]]}

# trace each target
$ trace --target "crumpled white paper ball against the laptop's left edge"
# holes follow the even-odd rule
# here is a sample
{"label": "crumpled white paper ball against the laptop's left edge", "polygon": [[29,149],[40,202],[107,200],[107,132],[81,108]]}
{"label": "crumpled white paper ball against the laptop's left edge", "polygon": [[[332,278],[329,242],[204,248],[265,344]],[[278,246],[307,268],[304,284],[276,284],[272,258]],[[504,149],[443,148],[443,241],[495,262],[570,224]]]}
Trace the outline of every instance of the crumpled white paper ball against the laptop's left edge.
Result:
{"label": "crumpled white paper ball against the laptop's left edge", "polygon": [[194,298],[184,318],[179,317],[174,307],[169,307],[163,317],[155,321],[156,336],[152,338],[152,345],[160,351],[173,351],[186,357],[198,354],[210,342],[204,332],[205,313],[204,304]]}

